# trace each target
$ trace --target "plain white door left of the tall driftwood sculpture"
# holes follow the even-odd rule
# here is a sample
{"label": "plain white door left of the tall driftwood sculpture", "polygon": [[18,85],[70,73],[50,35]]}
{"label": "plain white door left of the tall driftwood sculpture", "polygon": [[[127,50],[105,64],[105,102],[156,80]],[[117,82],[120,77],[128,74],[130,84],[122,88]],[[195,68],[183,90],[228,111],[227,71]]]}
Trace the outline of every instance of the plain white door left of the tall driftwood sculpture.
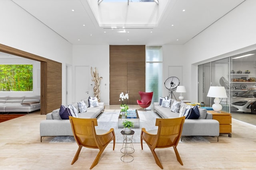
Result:
{"label": "plain white door left of the tall driftwood sculpture", "polygon": [[75,102],[89,98],[90,68],[75,66]]}

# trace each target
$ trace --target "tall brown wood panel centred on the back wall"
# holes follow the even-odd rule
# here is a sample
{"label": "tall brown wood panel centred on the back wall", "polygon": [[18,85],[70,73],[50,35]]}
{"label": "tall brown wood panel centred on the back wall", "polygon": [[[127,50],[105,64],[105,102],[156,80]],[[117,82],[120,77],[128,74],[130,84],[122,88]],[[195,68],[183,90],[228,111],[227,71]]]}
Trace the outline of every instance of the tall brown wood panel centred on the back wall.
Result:
{"label": "tall brown wood panel centred on the back wall", "polygon": [[110,104],[121,104],[119,94],[129,91],[128,104],[137,104],[145,91],[145,45],[110,45]]}

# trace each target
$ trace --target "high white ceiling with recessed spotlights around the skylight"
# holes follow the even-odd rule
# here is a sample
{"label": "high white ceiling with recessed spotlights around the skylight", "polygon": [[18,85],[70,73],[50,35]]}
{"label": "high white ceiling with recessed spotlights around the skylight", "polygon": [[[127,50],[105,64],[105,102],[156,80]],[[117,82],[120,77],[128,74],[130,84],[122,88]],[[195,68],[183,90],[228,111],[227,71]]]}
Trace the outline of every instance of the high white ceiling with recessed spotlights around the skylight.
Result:
{"label": "high white ceiling with recessed spotlights around the skylight", "polygon": [[[111,27],[102,26],[96,13],[92,11],[93,5],[94,8],[99,8],[100,12],[104,1],[98,5],[98,0],[94,0],[97,6],[92,4],[93,0],[12,1],[71,44],[163,45],[188,42],[244,0],[159,0],[159,5],[154,2],[143,2],[154,3],[158,6],[154,8],[161,8],[162,14],[157,14],[155,25],[152,26],[152,21],[148,21],[150,23],[147,26],[147,23],[138,23],[135,19],[134,23],[126,23],[130,21],[128,15],[124,18],[124,23],[117,24],[115,18],[117,20],[120,15],[113,15],[113,12],[120,10],[116,8],[101,16],[101,19],[112,18],[113,23],[108,23],[112,25]],[[112,3],[125,3],[127,10],[132,8],[131,3],[129,5],[127,2]],[[164,8],[162,8],[163,4]],[[134,9],[142,13],[145,10],[145,8]],[[154,18],[152,13],[148,15]],[[137,17],[133,16],[133,18]]]}

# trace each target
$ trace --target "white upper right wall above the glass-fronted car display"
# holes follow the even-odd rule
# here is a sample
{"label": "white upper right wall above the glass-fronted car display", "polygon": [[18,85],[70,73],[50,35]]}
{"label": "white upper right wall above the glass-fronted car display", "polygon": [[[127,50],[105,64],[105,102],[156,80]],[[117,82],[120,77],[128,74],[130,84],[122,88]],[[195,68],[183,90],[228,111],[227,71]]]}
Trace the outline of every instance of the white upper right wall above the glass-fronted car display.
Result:
{"label": "white upper right wall above the glass-fronted car display", "polygon": [[256,1],[246,0],[186,43],[190,99],[197,101],[197,66],[256,49]]}

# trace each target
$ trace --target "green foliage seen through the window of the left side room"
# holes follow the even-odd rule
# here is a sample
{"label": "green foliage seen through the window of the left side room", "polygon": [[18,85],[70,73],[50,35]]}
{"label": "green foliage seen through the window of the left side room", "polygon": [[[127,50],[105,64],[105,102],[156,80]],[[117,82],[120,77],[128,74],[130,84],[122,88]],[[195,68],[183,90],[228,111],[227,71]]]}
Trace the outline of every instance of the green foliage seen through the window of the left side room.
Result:
{"label": "green foliage seen through the window of the left side room", "polygon": [[33,65],[0,64],[0,91],[33,91]]}

